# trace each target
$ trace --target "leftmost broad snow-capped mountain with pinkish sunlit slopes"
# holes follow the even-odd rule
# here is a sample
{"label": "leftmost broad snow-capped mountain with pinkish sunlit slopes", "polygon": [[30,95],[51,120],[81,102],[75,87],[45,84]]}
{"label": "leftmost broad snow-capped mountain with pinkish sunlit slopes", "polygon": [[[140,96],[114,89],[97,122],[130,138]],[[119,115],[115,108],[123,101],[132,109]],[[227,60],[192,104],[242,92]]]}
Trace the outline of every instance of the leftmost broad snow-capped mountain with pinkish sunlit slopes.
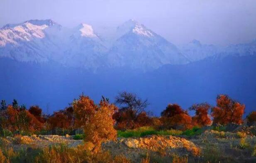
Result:
{"label": "leftmost broad snow-capped mountain with pinkish sunlit slopes", "polygon": [[[18,61],[48,61],[56,55],[56,35],[61,26],[52,20],[30,20],[0,29],[0,57]],[[58,39],[59,40],[59,39]]]}

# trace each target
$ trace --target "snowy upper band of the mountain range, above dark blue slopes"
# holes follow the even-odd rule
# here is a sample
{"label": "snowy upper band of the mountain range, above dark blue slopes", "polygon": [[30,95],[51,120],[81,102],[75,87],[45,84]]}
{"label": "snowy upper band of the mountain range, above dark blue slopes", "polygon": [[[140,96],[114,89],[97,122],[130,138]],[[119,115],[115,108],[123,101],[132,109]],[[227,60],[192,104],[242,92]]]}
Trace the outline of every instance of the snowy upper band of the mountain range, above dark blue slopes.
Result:
{"label": "snowy upper band of the mountain range, above dark blue slopes", "polygon": [[92,70],[127,67],[147,71],[207,57],[256,54],[255,40],[227,47],[193,40],[178,48],[133,19],[104,32],[98,33],[88,24],[65,28],[50,19],[7,24],[0,28],[0,57],[36,63],[56,61]]}

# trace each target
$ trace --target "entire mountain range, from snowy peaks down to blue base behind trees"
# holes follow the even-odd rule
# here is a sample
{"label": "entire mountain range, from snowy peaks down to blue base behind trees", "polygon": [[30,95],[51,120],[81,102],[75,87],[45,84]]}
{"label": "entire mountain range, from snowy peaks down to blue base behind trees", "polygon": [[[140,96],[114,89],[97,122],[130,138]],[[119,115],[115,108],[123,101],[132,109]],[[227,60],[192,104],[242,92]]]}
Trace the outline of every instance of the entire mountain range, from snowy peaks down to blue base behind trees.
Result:
{"label": "entire mountain range, from snowy peaks down to blue base behind trees", "polygon": [[256,108],[256,40],[176,46],[132,19],[106,35],[88,24],[65,28],[52,20],[3,26],[0,99],[52,112],[81,92],[97,101],[127,90],[149,98],[149,109],[159,114],[168,103],[215,104],[224,93],[245,103],[247,113]]}

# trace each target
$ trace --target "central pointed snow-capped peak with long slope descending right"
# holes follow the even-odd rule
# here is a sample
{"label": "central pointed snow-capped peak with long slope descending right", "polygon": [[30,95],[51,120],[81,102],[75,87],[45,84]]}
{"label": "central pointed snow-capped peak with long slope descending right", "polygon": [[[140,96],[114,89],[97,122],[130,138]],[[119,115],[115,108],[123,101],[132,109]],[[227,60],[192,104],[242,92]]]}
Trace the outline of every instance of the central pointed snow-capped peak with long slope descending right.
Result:
{"label": "central pointed snow-capped peak with long slope descending right", "polygon": [[111,67],[147,70],[189,62],[175,45],[132,19],[117,27],[117,35],[118,39],[107,52]]}

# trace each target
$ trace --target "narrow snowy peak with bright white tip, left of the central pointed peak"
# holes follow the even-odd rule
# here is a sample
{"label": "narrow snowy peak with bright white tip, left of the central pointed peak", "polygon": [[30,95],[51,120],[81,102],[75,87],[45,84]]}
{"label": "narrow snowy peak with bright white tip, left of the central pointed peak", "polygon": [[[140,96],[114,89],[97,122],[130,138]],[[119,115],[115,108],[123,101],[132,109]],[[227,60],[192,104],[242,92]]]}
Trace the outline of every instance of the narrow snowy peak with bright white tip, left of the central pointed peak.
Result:
{"label": "narrow snowy peak with bright white tip, left of the central pointed peak", "polygon": [[102,55],[107,51],[100,37],[88,24],[80,24],[69,36],[68,49],[61,63],[67,66],[97,69],[102,66]]}

